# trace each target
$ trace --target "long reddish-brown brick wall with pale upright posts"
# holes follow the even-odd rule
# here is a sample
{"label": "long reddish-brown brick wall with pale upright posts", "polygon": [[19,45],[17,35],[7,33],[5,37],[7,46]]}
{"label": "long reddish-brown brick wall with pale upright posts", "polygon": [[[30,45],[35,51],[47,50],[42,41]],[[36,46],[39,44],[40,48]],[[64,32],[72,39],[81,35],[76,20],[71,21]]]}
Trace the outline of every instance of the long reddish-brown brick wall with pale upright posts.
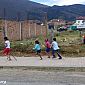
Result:
{"label": "long reddish-brown brick wall with pale upright posts", "polygon": [[[7,28],[5,30],[8,38],[10,40],[24,40],[31,37],[36,37],[39,35],[46,35],[46,28],[45,26],[38,25],[35,22],[28,22],[28,21],[6,21],[6,24],[4,21],[1,23],[1,28]],[[2,36],[0,36],[0,40],[3,36],[3,31],[0,33]]]}

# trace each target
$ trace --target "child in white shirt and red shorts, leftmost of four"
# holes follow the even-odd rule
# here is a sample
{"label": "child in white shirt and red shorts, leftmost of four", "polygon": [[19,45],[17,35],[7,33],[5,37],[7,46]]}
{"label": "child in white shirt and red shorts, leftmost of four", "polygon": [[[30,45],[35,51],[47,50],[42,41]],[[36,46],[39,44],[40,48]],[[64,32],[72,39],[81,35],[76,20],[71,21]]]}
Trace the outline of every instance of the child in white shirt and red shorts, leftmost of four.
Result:
{"label": "child in white shirt and red shorts, leftmost of four", "polygon": [[7,59],[8,60],[11,60],[9,54],[10,54],[10,41],[8,40],[7,37],[4,37],[4,40],[5,40],[5,49],[3,50],[3,54],[5,54],[7,56]]}

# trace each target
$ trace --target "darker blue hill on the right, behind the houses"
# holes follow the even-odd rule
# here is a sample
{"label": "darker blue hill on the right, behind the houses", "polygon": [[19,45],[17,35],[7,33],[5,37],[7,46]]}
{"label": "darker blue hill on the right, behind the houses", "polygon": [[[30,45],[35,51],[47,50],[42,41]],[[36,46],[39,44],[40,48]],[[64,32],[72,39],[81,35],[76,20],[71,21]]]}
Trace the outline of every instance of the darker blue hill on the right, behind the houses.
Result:
{"label": "darker blue hill on the right, behind the houses", "polygon": [[62,18],[65,20],[75,20],[78,16],[85,16],[85,5],[75,4],[69,6],[52,6],[44,9],[48,13],[48,18]]}

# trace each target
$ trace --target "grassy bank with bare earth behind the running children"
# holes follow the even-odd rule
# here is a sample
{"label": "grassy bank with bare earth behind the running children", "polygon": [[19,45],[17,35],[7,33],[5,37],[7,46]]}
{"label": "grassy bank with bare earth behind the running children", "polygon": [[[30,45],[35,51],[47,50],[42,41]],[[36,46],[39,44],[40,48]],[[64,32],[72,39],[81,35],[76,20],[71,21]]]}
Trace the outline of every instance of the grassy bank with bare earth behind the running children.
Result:
{"label": "grassy bank with bare earth behind the running children", "polygon": [[[48,36],[49,37],[49,36]],[[85,45],[83,44],[82,35],[80,31],[63,31],[61,33],[56,33],[55,37],[60,47],[60,53],[64,57],[84,57],[85,55]],[[15,56],[34,56],[35,51],[33,51],[34,41],[38,39],[41,43],[42,55],[46,55],[44,40],[46,37],[40,35],[36,38],[31,38],[22,41],[11,42],[12,53]],[[4,48],[4,43],[0,43],[0,50]]]}

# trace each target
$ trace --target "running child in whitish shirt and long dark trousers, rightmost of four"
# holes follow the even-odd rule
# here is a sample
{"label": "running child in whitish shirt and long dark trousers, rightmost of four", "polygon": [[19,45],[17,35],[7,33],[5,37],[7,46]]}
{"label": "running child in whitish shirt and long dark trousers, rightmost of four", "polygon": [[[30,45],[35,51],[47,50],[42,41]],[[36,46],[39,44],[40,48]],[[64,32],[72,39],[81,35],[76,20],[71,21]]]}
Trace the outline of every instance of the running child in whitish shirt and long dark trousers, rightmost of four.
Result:
{"label": "running child in whitish shirt and long dark trousers, rightmost of four", "polygon": [[59,50],[59,47],[58,47],[58,43],[56,42],[56,38],[53,38],[53,42],[52,42],[52,55],[53,55],[53,58],[56,58],[55,52],[57,52],[57,55],[58,55],[59,59],[62,59],[62,56],[59,54],[58,50]]}

